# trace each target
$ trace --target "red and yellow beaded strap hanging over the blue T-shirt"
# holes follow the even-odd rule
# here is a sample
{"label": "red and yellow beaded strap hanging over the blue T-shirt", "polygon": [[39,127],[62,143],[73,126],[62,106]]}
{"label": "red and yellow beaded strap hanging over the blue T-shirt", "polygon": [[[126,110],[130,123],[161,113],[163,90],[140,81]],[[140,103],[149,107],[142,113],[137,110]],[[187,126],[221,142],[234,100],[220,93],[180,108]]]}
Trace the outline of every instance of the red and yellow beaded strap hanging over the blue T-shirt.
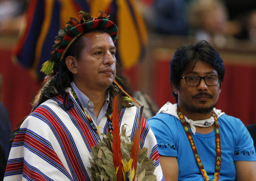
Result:
{"label": "red and yellow beaded strap hanging over the blue T-shirt", "polygon": [[[191,132],[189,130],[189,125],[186,122],[186,119],[184,117],[184,115],[181,113],[179,107],[177,109],[178,112],[178,116],[180,118],[180,122],[184,128],[184,131],[186,133],[186,135],[188,136],[188,140],[190,142],[190,146],[192,148],[192,151],[194,153],[197,165],[203,175],[203,178],[205,179],[205,181],[210,181],[209,177],[205,171],[205,168],[203,167],[203,163],[201,162],[201,159],[199,158],[199,154],[197,152],[197,148],[196,145],[194,144],[193,141],[193,137],[191,135]],[[220,175],[220,163],[221,163],[221,149],[220,149],[220,127],[219,127],[219,122],[217,119],[217,116],[212,113],[212,116],[214,117],[215,120],[215,137],[216,137],[216,163],[215,163],[215,173],[214,173],[214,181],[218,181],[219,180],[219,175]]]}

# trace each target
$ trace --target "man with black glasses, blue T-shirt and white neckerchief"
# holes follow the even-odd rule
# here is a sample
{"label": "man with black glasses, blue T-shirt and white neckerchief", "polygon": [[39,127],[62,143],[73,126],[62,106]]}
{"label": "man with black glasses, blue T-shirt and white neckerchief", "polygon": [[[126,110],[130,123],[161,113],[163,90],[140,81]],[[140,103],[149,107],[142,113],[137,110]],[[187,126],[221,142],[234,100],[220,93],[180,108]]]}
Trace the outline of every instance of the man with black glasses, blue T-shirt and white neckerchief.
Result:
{"label": "man with black glasses, blue T-shirt and white neckerchief", "polygon": [[240,119],[215,108],[224,78],[206,41],[179,47],[170,62],[172,95],[148,119],[166,181],[256,180],[253,140]]}

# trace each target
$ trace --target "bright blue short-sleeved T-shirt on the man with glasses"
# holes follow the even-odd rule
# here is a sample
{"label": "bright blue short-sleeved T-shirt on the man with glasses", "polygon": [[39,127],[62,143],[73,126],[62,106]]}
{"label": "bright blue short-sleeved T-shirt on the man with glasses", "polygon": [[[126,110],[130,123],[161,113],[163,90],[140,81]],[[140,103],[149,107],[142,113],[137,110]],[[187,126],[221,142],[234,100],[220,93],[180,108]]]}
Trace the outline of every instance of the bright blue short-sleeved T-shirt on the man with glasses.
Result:
{"label": "bright blue short-sleeved T-shirt on the man with glasses", "polygon": [[[221,144],[219,181],[235,180],[235,160],[256,160],[253,140],[240,119],[224,114],[218,118],[218,121]],[[161,113],[148,119],[147,122],[156,136],[159,154],[177,157],[179,181],[203,181],[179,119]],[[210,180],[213,180],[216,159],[215,130],[209,134],[192,134],[192,137],[207,175]]]}

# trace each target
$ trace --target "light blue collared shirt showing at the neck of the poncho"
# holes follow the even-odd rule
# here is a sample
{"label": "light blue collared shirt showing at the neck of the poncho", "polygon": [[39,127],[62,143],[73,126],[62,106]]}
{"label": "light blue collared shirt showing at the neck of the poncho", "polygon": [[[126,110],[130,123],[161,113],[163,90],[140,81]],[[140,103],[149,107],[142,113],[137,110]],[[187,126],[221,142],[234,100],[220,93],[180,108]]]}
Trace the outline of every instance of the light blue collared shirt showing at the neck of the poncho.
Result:
{"label": "light blue collared shirt showing at the neck of the poncho", "polygon": [[96,125],[99,126],[100,120],[107,113],[108,104],[109,104],[109,92],[107,92],[106,97],[105,97],[105,103],[104,103],[103,107],[101,108],[98,117],[96,117],[96,115],[94,113],[93,102],[91,102],[89,100],[89,98],[77,88],[77,86],[75,85],[75,83],[73,81],[71,82],[71,86],[76,93],[77,99],[79,100],[82,109],[84,109],[89,114],[91,119],[96,123]]}

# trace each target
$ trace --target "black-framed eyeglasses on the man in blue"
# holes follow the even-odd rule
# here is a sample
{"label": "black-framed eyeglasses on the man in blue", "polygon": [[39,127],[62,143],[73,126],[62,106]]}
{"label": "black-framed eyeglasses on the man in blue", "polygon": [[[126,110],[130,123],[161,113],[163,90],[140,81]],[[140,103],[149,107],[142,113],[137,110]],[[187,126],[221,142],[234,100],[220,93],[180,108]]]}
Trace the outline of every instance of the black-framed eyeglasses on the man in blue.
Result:
{"label": "black-framed eyeglasses on the man in blue", "polygon": [[203,79],[207,86],[216,86],[220,82],[220,76],[185,76],[181,77],[180,79],[185,79],[187,86],[198,86]]}

